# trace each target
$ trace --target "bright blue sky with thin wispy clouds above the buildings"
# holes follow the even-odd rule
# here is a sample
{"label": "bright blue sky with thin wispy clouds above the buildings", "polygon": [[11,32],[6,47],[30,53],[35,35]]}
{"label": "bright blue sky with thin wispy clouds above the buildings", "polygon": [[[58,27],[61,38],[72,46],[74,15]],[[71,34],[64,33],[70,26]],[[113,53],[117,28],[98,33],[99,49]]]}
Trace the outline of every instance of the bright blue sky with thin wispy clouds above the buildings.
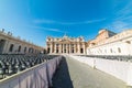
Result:
{"label": "bright blue sky with thin wispy clouds above the buildings", "polygon": [[0,0],[0,29],[41,46],[46,36],[67,33],[88,41],[100,29],[131,28],[131,0]]}

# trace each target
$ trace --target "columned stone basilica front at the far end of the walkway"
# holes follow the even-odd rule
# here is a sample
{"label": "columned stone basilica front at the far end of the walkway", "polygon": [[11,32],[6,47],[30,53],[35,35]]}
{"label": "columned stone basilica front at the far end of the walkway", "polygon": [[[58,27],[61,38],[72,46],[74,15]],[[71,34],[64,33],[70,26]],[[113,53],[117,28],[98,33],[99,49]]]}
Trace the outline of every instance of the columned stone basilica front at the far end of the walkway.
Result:
{"label": "columned stone basilica front at the far end of the walkway", "polygon": [[63,37],[46,38],[47,53],[50,54],[86,54],[86,42],[82,36],[74,38]]}

